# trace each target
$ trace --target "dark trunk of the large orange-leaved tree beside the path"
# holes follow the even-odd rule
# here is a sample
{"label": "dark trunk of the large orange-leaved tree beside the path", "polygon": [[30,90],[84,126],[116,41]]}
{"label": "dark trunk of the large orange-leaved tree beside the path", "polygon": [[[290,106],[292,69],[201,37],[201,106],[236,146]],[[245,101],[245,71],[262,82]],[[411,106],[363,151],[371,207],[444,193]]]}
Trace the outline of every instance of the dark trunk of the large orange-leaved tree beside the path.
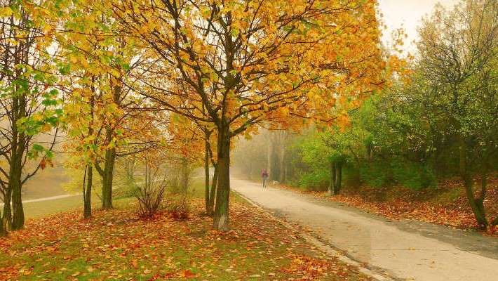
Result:
{"label": "dark trunk of the large orange-leaved tree beside the path", "polygon": [[218,178],[213,228],[228,231],[230,199],[230,135],[228,124],[224,124],[218,129],[217,156]]}

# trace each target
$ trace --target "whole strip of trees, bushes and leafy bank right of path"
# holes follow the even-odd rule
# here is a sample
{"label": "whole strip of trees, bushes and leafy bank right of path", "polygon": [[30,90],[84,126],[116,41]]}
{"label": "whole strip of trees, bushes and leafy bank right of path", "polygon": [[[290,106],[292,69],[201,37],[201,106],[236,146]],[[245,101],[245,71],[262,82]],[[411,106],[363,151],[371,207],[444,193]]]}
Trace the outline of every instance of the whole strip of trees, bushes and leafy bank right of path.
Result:
{"label": "whole strip of trees, bushes and leafy bank right of path", "polygon": [[410,81],[370,96],[349,126],[266,131],[238,171],[328,192],[387,216],[494,231],[498,224],[498,9],[438,7],[419,29]]}

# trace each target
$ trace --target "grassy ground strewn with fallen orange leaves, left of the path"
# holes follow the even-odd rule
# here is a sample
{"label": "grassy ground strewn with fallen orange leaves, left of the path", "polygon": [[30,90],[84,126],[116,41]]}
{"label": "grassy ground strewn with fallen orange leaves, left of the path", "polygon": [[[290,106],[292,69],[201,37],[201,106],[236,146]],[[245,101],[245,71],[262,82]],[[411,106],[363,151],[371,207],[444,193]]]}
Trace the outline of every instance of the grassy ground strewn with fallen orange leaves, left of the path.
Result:
{"label": "grassy ground strewn with fallen orange leaves, left of the path", "polygon": [[90,220],[75,210],[28,221],[0,240],[0,280],[370,280],[240,200],[228,233],[200,213],[144,221],[131,202]]}

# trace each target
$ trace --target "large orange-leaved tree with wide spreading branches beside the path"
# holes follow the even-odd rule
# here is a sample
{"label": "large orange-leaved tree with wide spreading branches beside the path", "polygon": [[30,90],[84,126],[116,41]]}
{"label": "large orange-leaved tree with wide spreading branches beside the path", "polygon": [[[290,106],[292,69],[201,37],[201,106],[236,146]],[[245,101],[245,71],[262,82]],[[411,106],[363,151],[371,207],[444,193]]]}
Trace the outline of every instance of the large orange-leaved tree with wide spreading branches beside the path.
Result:
{"label": "large orange-leaved tree with wide spreading branches beside the path", "polygon": [[229,225],[231,139],[288,116],[330,122],[383,84],[375,1],[108,1],[154,65],[137,89],[217,131],[213,226]]}

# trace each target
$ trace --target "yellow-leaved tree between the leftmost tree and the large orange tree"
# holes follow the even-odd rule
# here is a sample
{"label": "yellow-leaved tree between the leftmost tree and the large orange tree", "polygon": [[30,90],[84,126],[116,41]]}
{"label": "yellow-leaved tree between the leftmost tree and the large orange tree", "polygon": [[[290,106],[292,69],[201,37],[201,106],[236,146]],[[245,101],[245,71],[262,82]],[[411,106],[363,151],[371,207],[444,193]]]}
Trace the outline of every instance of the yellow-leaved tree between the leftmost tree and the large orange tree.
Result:
{"label": "yellow-leaved tree between the leftmost tree and the large orange tree", "polygon": [[[86,138],[92,138],[95,155],[83,156],[83,159],[91,159],[91,166],[102,178],[102,209],[111,209],[116,157],[147,150],[158,141],[150,137],[155,129],[154,118],[146,108],[147,100],[127,86],[134,83],[133,72],[140,75],[137,69],[142,59],[140,53],[135,52],[133,40],[126,40],[119,25],[107,13],[81,1],[61,1],[51,8],[62,30],[55,41],[65,51],[59,64],[61,74],[67,78],[68,95],[76,94],[71,100],[76,107],[74,111],[79,105],[84,109],[90,102],[79,91],[86,86],[95,90],[92,96],[94,128],[87,128],[95,136],[86,136],[87,129],[80,131]],[[89,77],[93,82],[88,81]],[[73,125],[73,129],[81,126],[78,118],[72,121],[76,121],[69,125]],[[88,170],[88,176],[92,176],[92,171]]]}

